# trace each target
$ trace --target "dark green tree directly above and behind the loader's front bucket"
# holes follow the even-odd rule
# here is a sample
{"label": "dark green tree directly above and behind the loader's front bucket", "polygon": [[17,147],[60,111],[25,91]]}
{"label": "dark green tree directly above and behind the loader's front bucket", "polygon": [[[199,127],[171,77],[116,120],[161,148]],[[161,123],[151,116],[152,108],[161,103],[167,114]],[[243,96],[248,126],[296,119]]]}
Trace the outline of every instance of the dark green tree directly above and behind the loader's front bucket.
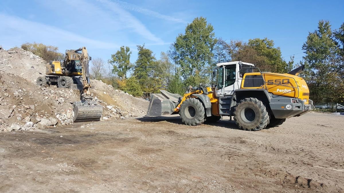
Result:
{"label": "dark green tree directly above and behind the loader's front bucket", "polygon": [[145,48],[144,44],[137,46],[138,58],[135,62],[134,73],[143,92],[158,92],[161,88],[162,80],[159,78],[157,71],[157,59],[152,50]]}

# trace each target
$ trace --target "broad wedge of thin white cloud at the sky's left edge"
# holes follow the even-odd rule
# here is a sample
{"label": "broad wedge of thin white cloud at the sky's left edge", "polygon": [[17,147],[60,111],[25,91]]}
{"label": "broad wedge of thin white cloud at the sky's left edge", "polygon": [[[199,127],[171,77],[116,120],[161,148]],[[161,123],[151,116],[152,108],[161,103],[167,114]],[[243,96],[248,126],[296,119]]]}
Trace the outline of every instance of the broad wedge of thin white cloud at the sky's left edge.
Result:
{"label": "broad wedge of thin white cloud at the sky's left edge", "polygon": [[[68,42],[69,44],[85,45],[94,48],[117,48],[118,45],[97,41],[72,32],[59,29],[55,26],[45,25],[37,22],[25,20],[16,16],[6,15],[0,13],[0,28],[2,34],[7,34],[8,37],[21,38],[13,39],[14,42],[24,43],[26,41],[47,42],[49,44],[58,44],[61,42]],[[7,39],[6,41],[10,41]],[[11,40],[12,41],[12,40]]]}

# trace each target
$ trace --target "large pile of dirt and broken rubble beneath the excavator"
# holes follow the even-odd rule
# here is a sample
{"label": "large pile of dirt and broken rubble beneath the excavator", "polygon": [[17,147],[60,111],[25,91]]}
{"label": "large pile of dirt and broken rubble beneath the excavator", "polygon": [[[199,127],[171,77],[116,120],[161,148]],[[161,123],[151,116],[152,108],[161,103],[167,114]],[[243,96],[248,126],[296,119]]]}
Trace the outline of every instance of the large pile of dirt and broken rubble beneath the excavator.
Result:
{"label": "large pile of dirt and broken rubble beneath the excavator", "polygon": [[[0,47],[0,132],[32,130],[73,123],[72,103],[80,100],[80,90],[42,88],[36,79],[45,72],[44,61],[21,48]],[[135,98],[98,80],[91,92],[103,106],[102,120],[125,119],[146,114],[148,101]]]}

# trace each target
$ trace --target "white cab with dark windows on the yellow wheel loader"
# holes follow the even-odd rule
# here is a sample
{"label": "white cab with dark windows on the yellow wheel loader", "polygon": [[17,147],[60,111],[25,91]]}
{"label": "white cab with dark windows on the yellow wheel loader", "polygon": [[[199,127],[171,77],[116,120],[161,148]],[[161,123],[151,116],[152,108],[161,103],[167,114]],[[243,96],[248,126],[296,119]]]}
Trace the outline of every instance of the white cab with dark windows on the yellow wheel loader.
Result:
{"label": "white cab with dark windows on the yellow wheel loader", "polygon": [[237,89],[240,89],[244,73],[252,72],[253,64],[241,61],[218,63],[217,66],[217,84],[215,87],[216,98],[224,95],[232,95]]}

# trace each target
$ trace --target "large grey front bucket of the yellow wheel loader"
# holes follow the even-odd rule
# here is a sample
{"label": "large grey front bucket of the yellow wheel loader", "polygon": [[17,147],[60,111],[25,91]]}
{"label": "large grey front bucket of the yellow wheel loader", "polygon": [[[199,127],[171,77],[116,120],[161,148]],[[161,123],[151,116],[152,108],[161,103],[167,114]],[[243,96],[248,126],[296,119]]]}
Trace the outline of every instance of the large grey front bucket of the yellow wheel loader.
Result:
{"label": "large grey front bucket of the yellow wheel loader", "polygon": [[150,94],[151,99],[146,116],[171,115],[182,98],[180,94],[173,94],[165,90],[160,90],[160,92],[160,94]]}

